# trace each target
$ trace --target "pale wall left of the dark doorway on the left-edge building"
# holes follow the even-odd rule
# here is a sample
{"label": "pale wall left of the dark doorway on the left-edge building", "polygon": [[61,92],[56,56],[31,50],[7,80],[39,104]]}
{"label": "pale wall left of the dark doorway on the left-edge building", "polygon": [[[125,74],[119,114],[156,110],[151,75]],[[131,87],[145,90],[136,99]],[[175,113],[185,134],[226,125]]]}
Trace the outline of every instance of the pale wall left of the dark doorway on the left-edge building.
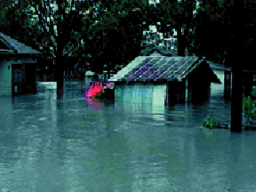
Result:
{"label": "pale wall left of the dark doorway on the left-edge building", "polygon": [[[10,68],[8,68],[10,65]],[[12,96],[12,62],[0,60],[0,96]]]}

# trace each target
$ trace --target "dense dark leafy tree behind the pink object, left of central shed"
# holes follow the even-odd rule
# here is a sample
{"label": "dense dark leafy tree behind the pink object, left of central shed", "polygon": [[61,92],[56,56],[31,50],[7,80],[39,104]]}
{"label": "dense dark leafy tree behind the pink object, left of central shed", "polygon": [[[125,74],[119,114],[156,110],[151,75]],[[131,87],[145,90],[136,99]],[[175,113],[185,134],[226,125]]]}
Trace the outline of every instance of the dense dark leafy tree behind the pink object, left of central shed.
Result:
{"label": "dense dark leafy tree behind the pink object, left of central shed", "polygon": [[[138,0],[129,3],[119,1],[117,4],[112,4],[111,10],[108,11],[108,4],[104,2],[102,4],[99,4],[99,9],[107,9],[107,12],[100,15],[100,22],[113,25],[106,25],[107,28],[99,25],[101,30],[95,30],[97,34],[95,38],[86,39],[87,42],[91,42],[90,48],[84,46],[84,52],[85,50],[90,52],[90,57],[88,57],[92,64],[90,68],[96,73],[102,73],[103,70],[108,70],[108,72],[115,70],[116,65],[120,64],[125,66],[138,56],[143,36],[143,12],[148,6],[145,2]],[[95,63],[102,63],[102,66],[99,68],[99,65]]]}

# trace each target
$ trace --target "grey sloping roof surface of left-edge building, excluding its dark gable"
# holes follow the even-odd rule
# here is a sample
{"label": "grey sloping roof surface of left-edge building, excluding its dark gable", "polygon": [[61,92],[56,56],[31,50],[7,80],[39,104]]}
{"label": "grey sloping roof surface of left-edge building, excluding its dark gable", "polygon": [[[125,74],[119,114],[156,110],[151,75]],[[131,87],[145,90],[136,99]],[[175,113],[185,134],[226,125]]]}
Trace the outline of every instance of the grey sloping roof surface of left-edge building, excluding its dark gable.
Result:
{"label": "grey sloping roof surface of left-edge building, excluding its dark gable", "polygon": [[16,39],[13,39],[11,36],[6,36],[3,33],[0,33],[1,42],[8,43],[10,49],[17,51],[17,53],[28,53],[28,54],[43,54],[42,52],[36,51],[29,47],[26,44],[22,44]]}

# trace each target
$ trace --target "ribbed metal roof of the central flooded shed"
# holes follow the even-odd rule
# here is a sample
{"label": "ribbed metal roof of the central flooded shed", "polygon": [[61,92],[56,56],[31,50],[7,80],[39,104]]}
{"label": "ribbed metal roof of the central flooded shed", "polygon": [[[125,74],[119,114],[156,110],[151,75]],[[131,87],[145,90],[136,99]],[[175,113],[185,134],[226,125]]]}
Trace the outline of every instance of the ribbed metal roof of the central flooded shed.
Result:
{"label": "ribbed metal roof of the central flooded shed", "polygon": [[[201,65],[200,68],[198,67],[199,65]],[[204,74],[204,77],[205,73],[207,73],[207,77],[210,78],[212,83],[221,84],[220,79],[214,74],[207,61],[196,56],[139,56],[115,76],[109,78],[108,81],[181,81],[196,68],[197,71],[198,68],[202,70],[201,73]]]}

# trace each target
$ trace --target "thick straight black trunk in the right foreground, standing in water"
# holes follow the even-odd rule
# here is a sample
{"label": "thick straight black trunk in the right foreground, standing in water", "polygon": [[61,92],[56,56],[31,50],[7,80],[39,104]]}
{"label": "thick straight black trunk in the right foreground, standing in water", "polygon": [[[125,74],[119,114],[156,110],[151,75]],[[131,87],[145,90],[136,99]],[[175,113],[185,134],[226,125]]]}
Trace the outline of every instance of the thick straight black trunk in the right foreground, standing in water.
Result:
{"label": "thick straight black trunk in the right foreground, standing in water", "polygon": [[[233,12],[232,31],[229,49],[229,61],[232,62],[232,99],[230,132],[242,132],[242,73],[244,58],[244,0],[234,0],[236,12]],[[239,12],[239,14],[237,14]],[[239,49],[237,49],[239,47]]]}

